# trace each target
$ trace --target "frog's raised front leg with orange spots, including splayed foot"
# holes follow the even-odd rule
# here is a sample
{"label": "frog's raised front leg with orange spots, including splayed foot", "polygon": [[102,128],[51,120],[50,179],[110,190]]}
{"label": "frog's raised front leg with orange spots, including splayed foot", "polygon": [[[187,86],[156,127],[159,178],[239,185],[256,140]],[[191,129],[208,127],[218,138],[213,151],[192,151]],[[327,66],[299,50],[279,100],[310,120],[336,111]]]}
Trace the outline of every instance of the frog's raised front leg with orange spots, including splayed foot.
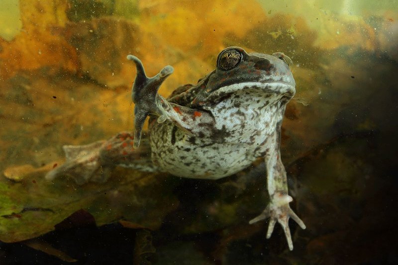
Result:
{"label": "frog's raised front leg with orange spots, including splayed foot", "polygon": [[173,73],[172,66],[165,66],[159,74],[148,78],[140,59],[133,55],[128,55],[127,59],[133,61],[137,67],[137,75],[132,88],[132,99],[135,103],[134,148],[139,146],[143,124],[150,114],[158,116],[157,121],[159,123],[171,120],[180,128],[192,134],[195,134],[197,130],[198,132],[202,131],[199,129],[201,127],[198,126],[199,124],[202,126],[214,124],[214,118],[210,113],[170,103],[158,94],[160,85]]}

